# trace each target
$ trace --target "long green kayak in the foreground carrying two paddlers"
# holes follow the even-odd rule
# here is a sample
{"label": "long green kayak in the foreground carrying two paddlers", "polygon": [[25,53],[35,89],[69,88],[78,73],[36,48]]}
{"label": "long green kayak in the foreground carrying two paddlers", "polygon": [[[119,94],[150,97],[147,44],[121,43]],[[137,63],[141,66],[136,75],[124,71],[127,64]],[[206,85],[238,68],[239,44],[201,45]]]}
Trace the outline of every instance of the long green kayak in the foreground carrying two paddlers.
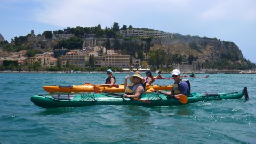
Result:
{"label": "long green kayak in the foreground carrying two paddlers", "polygon": [[[231,93],[198,93],[193,92],[187,97],[188,103],[207,101],[207,100],[221,100],[221,99],[240,99],[245,95],[248,99],[247,88],[242,92]],[[173,106],[183,105],[179,99],[174,97],[166,97],[164,94],[146,93],[138,100],[129,98],[122,98],[115,94],[107,93],[75,93],[75,94],[47,94],[35,95],[31,97],[31,101],[43,108],[57,108],[57,107],[82,107],[91,105],[138,105],[138,106]],[[144,101],[150,101],[144,102]]]}

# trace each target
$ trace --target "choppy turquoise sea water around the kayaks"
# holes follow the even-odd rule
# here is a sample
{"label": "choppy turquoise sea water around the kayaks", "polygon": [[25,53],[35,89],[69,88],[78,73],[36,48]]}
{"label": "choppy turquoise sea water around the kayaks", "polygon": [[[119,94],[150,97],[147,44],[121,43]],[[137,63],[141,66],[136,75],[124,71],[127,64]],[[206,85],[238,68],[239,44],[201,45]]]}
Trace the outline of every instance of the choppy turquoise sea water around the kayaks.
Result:
{"label": "choppy turquoise sea water around the kayaks", "polygon": [[[115,74],[117,84],[126,75]],[[107,74],[0,74],[0,143],[256,143],[256,75],[207,75],[189,78],[192,91],[234,92],[246,86],[250,100],[44,109],[30,101],[47,93],[42,86],[100,84]]]}

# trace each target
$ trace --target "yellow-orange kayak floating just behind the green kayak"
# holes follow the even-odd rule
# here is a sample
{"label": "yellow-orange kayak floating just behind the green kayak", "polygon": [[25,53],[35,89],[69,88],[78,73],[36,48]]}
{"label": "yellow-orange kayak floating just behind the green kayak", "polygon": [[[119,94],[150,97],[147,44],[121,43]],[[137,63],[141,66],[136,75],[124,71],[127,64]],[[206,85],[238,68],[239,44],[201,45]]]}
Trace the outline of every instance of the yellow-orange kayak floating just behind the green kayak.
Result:
{"label": "yellow-orange kayak floating just behind the green kayak", "polygon": [[[49,93],[54,92],[94,92],[93,87],[97,86],[103,91],[107,92],[124,92],[124,85],[119,85],[119,88],[113,86],[102,86],[102,85],[93,85],[93,84],[83,84],[83,85],[53,85],[53,86],[43,86],[44,90]],[[172,90],[172,85],[146,85],[146,90],[154,88],[158,90]]]}

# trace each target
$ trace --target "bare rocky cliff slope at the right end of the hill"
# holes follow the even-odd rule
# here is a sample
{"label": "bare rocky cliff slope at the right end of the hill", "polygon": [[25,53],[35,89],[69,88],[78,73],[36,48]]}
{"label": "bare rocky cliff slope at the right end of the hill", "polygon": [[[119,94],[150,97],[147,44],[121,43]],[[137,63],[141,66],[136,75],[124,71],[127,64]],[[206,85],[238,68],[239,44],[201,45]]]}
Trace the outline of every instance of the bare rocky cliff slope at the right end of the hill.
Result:
{"label": "bare rocky cliff slope at the right end of the hill", "polygon": [[208,63],[227,59],[232,62],[244,62],[241,50],[233,42],[219,40],[189,38],[189,39],[153,39],[150,49],[163,49],[171,54],[189,55],[198,57],[200,63]]}

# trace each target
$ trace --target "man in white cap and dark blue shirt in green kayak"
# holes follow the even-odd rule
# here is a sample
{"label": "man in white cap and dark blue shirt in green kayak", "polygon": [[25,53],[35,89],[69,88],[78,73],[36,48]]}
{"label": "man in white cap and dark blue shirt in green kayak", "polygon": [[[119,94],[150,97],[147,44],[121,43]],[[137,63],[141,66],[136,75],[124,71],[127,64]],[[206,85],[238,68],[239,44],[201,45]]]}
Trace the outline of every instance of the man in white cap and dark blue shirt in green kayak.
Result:
{"label": "man in white cap and dark blue shirt in green kayak", "polygon": [[190,95],[190,84],[189,81],[184,81],[182,78],[180,78],[180,71],[178,69],[174,69],[172,71],[172,77],[173,80],[175,81],[172,85],[172,90],[171,92],[166,92],[165,94],[168,95]]}

